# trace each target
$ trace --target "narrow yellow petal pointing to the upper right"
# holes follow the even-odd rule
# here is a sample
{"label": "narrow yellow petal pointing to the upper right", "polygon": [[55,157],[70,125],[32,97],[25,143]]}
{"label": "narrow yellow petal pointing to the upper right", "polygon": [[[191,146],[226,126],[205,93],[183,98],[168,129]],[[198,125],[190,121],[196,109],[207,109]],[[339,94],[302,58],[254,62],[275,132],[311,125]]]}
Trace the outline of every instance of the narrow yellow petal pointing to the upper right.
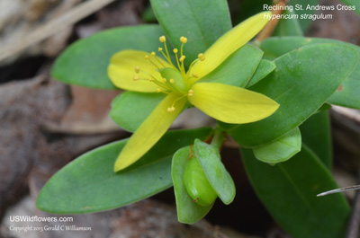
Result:
{"label": "narrow yellow petal pointing to the upper right", "polygon": [[199,80],[211,73],[217,66],[220,66],[229,55],[244,46],[264,28],[268,22],[266,14],[271,15],[271,12],[258,13],[222,35],[206,50],[204,53],[205,60],[199,60],[193,65],[191,73],[198,75]]}

